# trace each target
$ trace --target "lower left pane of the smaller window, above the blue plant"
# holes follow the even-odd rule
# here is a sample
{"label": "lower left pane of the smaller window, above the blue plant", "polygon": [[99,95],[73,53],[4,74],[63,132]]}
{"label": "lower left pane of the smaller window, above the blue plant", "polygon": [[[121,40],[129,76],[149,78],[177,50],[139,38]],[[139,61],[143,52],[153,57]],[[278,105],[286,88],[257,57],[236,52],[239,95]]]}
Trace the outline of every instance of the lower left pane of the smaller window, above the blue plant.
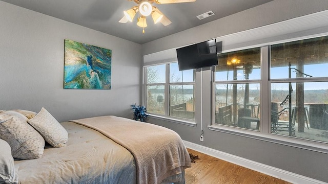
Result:
{"label": "lower left pane of the smaller window, above the blue plant", "polygon": [[164,114],[164,85],[147,86],[147,112]]}

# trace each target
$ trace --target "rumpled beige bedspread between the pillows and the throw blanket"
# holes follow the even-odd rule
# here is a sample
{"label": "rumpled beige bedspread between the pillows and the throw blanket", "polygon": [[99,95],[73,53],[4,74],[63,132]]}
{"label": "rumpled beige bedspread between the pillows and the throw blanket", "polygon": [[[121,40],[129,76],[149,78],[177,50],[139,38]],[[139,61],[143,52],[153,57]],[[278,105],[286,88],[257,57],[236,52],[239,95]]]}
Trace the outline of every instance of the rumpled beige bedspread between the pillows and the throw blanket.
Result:
{"label": "rumpled beige bedspread between the pillows and the throw blanket", "polygon": [[[67,146],[46,146],[42,158],[14,162],[21,184],[135,184],[133,155],[96,130],[73,122],[61,123]],[[1,148],[0,148],[1,149]]]}

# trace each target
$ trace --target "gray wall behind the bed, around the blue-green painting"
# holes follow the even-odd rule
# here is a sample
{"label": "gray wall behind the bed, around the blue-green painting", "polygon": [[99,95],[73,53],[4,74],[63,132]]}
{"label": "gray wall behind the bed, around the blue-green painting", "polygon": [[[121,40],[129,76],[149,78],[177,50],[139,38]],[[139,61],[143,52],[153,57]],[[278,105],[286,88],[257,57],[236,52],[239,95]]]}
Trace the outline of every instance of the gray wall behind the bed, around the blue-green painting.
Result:
{"label": "gray wall behind the bed, around the blue-green painting", "polygon": [[[63,89],[64,39],[112,50],[112,89]],[[132,117],[141,103],[141,45],[0,1],[0,109],[38,112],[59,122]]]}

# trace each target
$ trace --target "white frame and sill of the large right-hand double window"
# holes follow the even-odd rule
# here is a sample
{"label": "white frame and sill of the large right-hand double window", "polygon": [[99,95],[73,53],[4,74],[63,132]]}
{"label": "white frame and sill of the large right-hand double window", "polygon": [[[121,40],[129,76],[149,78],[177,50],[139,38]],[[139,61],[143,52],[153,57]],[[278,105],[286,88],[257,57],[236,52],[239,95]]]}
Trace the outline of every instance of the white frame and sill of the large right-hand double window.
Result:
{"label": "white frame and sill of the large right-hand double window", "polygon": [[[323,34],[328,35],[328,33]],[[322,35],[319,35],[322,36]],[[316,36],[316,37],[319,37]],[[290,41],[296,41],[301,39],[307,39],[307,38],[313,38],[313,36],[309,37],[301,37],[301,38],[294,38],[292,40],[283,40],[280,41],[280,43],[283,42],[290,42]],[[328,82],[328,77],[317,77],[317,78],[292,78],[292,79],[270,79],[270,63],[271,63],[271,45],[276,44],[275,43],[265,43],[261,45],[261,79],[260,79],[260,130],[254,131],[251,129],[243,129],[239,127],[232,127],[232,126],[226,126],[226,125],[220,125],[215,124],[214,121],[214,115],[215,112],[215,99],[214,99],[214,88],[215,88],[215,82],[212,81],[212,117],[211,117],[211,124],[208,126],[209,130],[212,131],[218,131],[218,132],[224,132],[244,137],[249,137],[251,139],[261,140],[261,141],[268,141],[272,143],[278,143],[282,145],[292,146],[296,148],[306,149],[306,150],[312,150],[316,152],[321,153],[328,153],[328,143],[327,142],[321,142],[316,140],[309,140],[309,139],[303,139],[301,137],[291,137],[291,136],[284,136],[280,134],[274,134],[271,133],[271,84],[272,83],[286,83],[289,82]],[[258,45],[256,45],[258,46]],[[229,50],[226,52],[232,52],[232,51],[238,51],[238,50],[244,50],[254,48],[252,46],[250,47],[244,47],[234,50]],[[215,75],[215,70],[212,70],[212,77]],[[214,79],[214,78],[213,78]],[[254,81],[254,80],[249,80]],[[238,81],[222,81],[221,83],[233,83]]]}

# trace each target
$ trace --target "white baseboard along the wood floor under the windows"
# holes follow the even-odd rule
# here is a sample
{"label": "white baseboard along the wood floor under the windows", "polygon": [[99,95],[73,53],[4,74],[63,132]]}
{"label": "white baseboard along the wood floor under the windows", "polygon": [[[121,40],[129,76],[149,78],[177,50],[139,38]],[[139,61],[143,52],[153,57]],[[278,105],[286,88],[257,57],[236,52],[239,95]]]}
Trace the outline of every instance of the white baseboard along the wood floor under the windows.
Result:
{"label": "white baseboard along the wood floor under the windows", "polygon": [[314,183],[324,184],[324,183],[326,183],[326,182],[319,181],[319,180],[316,180],[313,178],[309,178],[309,177],[295,174],[295,173],[292,173],[289,171],[285,171],[282,169],[264,165],[264,164],[261,164],[258,162],[254,162],[253,160],[245,159],[245,158],[235,156],[235,155],[232,155],[229,153],[225,153],[225,152],[218,151],[218,150],[215,150],[212,148],[201,146],[201,145],[198,145],[198,144],[195,144],[192,142],[183,141],[183,143],[185,143],[185,146],[187,148],[193,149],[195,151],[198,151],[198,152],[225,160],[227,162],[230,162],[230,163],[233,163],[233,164],[236,164],[236,165],[239,165],[239,166],[242,166],[242,167],[254,170],[254,171],[258,171],[260,173],[267,174],[269,176],[273,176],[275,178],[279,178],[279,179],[282,179],[284,181],[288,181],[291,183],[300,183],[300,184],[302,184],[302,183],[304,183],[304,184],[305,183],[306,184],[314,184]]}

